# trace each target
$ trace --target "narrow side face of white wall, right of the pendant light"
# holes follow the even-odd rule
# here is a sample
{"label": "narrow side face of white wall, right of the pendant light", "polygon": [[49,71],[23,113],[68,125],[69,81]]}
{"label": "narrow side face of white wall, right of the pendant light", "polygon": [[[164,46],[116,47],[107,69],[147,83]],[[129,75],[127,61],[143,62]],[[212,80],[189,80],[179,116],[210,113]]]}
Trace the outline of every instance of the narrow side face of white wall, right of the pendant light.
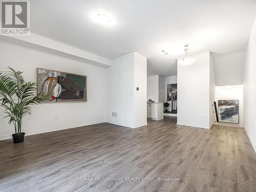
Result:
{"label": "narrow side face of white wall, right of the pendant light", "polygon": [[210,120],[210,127],[212,124],[215,123],[215,113],[214,113],[214,106],[212,106],[214,104],[215,101],[215,86],[216,86],[216,79],[215,79],[215,70],[214,70],[214,58],[212,57],[211,53],[210,53],[210,102],[209,102],[209,120]]}

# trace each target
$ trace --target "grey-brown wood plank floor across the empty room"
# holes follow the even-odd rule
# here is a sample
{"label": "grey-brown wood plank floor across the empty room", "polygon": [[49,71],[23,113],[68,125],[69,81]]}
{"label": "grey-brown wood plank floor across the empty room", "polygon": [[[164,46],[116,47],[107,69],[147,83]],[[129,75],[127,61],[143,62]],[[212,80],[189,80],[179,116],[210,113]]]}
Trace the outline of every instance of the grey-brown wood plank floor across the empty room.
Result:
{"label": "grey-brown wood plank floor across the empty room", "polygon": [[256,191],[256,154],[244,129],[180,126],[174,117],[0,141],[0,162],[1,191]]}

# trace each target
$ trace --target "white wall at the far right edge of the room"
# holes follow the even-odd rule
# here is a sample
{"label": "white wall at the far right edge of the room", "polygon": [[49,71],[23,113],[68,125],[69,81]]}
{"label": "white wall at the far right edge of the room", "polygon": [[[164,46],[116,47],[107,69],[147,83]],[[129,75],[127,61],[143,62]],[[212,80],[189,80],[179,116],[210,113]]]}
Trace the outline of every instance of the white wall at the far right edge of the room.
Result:
{"label": "white wall at the far right edge of the room", "polygon": [[256,20],[252,27],[244,66],[244,126],[256,152]]}

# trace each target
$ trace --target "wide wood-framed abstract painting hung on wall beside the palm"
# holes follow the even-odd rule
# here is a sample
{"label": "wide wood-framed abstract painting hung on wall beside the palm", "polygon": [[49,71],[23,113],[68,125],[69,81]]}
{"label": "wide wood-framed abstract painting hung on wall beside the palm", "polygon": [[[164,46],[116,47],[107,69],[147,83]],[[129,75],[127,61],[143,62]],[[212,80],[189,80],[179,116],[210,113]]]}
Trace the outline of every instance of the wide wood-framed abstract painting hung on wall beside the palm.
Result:
{"label": "wide wood-framed abstract painting hung on wall beside the palm", "polygon": [[85,102],[87,76],[37,68],[37,91],[49,102]]}

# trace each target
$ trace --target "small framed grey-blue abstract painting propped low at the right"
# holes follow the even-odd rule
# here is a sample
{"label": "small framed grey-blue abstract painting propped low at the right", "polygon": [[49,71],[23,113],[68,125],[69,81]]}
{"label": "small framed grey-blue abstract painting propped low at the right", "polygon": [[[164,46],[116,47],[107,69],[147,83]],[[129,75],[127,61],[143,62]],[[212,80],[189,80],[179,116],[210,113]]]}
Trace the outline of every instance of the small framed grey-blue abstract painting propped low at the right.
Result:
{"label": "small framed grey-blue abstract painting propped low at the right", "polygon": [[218,100],[219,122],[239,123],[239,100]]}

